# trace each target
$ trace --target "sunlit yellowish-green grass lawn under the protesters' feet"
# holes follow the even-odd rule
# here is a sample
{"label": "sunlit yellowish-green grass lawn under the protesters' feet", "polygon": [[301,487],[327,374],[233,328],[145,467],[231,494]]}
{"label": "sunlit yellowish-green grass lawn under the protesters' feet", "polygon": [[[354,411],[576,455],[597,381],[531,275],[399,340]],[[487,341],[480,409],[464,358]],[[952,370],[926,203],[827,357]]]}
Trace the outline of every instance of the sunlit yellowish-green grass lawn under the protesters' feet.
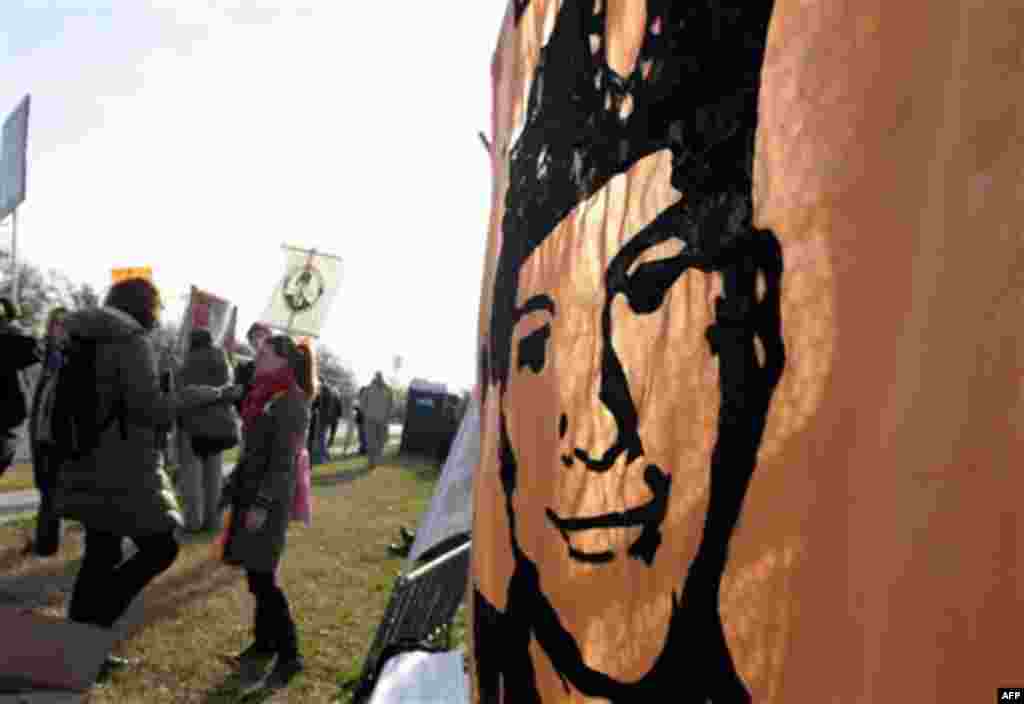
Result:
{"label": "sunlit yellowish-green grass lawn under the protesters' feet", "polygon": [[[281,569],[306,659],[285,692],[247,702],[346,702],[341,687],[362,658],[403,560],[386,546],[400,525],[415,526],[438,476],[427,459],[386,457],[367,472],[365,457],[314,468],[314,515],[295,525]],[[60,553],[24,559],[31,521],[0,526],[0,597],[63,615],[78,570],[82,534],[70,526]],[[144,658],[137,668],[96,686],[90,704],[238,701],[236,678],[221,656],[251,640],[252,598],[240,570],[211,559],[213,536],[190,538],[171,569],[153,582],[123,619],[115,653]],[[461,617],[456,641],[462,637]]]}

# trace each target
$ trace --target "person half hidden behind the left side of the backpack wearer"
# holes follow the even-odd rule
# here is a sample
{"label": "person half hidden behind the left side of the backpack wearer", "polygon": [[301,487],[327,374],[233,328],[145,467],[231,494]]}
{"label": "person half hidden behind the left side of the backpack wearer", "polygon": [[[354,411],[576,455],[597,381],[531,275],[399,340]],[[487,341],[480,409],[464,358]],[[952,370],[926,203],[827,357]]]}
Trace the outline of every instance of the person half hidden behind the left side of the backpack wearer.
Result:
{"label": "person half hidden behind the left side of the backpack wearer", "polygon": [[[63,365],[65,318],[68,309],[57,306],[46,318],[46,335],[43,341],[43,369],[36,383],[32,397],[31,421],[29,423],[29,446],[32,449],[32,474],[39,490],[39,510],[36,515],[36,536],[25,547],[25,554],[39,557],[56,555],[60,547],[60,517],[53,511],[53,491],[56,484],[56,457],[53,446],[40,442],[37,420],[45,402],[53,399],[51,384],[53,377]],[[50,393],[44,393],[50,392]]]}

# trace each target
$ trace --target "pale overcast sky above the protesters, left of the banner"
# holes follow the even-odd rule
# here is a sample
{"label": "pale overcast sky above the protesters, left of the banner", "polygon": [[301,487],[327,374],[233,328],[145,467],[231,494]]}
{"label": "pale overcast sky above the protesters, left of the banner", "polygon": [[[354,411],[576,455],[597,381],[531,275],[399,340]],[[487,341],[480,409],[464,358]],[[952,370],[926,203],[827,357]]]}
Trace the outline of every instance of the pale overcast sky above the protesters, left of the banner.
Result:
{"label": "pale overcast sky above the protesters, left of the banner", "polygon": [[[32,94],[18,252],[97,289],[152,266],[240,306],[285,243],[343,259],[323,340],[360,382],[474,382],[505,0],[5,0],[0,119]],[[9,229],[2,230],[4,243]]]}

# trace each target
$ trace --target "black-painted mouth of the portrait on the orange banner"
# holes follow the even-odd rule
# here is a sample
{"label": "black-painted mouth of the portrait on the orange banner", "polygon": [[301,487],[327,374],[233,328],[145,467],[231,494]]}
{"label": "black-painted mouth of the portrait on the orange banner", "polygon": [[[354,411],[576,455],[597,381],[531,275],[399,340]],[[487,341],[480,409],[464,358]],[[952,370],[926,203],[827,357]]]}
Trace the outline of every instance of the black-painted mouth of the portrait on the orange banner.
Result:
{"label": "black-painted mouth of the portrait on the orange banner", "polygon": [[615,559],[613,551],[587,553],[577,549],[569,540],[572,533],[584,530],[643,526],[640,537],[633,541],[628,554],[630,557],[643,560],[645,564],[650,566],[654,561],[654,554],[657,552],[658,545],[662,544],[660,526],[669,509],[669,491],[671,489],[672,477],[656,466],[648,465],[644,470],[643,479],[654,495],[649,501],[633,509],[586,518],[562,518],[551,509],[547,510],[548,520],[561,533],[562,539],[565,540],[565,544],[568,546],[570,558],[580,562],[593,564],[605,564]]}

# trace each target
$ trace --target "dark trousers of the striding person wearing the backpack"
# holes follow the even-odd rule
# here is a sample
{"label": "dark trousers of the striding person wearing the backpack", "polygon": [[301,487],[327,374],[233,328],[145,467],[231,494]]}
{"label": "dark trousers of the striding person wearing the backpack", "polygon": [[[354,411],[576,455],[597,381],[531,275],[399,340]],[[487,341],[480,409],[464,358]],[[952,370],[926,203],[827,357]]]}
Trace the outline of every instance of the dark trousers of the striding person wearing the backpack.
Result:
{"label": "dark trousers of the striding person wearing the backpack", "polygon": [[121,535],[85,529],[85,556],[71,595],[68,618],[113,628],[132,600],[178,556],[174,533],[129,536],[138,546],[124,560]]}

